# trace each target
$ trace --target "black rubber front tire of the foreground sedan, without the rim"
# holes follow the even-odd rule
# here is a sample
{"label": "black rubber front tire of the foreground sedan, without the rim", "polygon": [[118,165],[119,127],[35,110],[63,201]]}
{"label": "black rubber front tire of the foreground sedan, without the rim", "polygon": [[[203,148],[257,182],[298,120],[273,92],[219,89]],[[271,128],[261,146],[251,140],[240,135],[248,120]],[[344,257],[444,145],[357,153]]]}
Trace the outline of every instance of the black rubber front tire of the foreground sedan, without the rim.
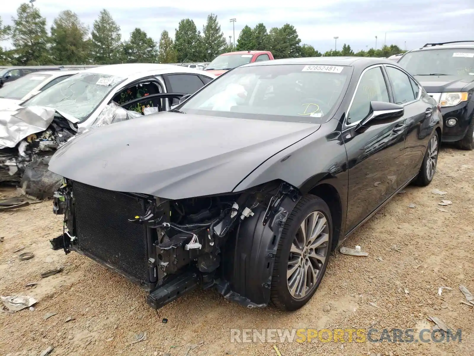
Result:
{"label": "black rubber front tire of the foreground sedan, without the rim", "polygon": [[[290,249],[292,247],[293,240],[299,231],[300,225],[313,212],[318,212],[319,214],[324,215],[327,221],[328,229],[324,230],[328,233],[326,258],[324,263],[321,263],[321,266],[319,266],[319,273],[316,276],[316,282],[312,283],[310,291],[302,298],[294,298],[290,293],[287,280]],[[292,213],[286,220],[285,225],[283,226],[282,236],[278,243],[275,263],[273,266],[270,305],[278,309],[292,311],[301,308],[311,299],[315,291],[318,289],[318,286],[324,276],[324,272],[326,271],[329,255],[331,252],[331,242],[332,218],[328,205],[324,202],[324,200],[314,195],[301,197],[294,207]]]}

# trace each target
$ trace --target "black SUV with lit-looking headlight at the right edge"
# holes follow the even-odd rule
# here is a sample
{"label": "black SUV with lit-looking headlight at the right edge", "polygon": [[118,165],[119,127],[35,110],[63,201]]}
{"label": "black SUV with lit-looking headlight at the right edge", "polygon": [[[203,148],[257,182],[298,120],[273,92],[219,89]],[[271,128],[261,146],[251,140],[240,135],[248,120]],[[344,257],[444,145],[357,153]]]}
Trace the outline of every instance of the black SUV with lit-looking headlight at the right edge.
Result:
{"label": "black SUV with lit-looking headlight at the right edge", "polygon": [[427,43],[405,53],[398,64],[440,104],[443,141],[473,150],[474,41]]}

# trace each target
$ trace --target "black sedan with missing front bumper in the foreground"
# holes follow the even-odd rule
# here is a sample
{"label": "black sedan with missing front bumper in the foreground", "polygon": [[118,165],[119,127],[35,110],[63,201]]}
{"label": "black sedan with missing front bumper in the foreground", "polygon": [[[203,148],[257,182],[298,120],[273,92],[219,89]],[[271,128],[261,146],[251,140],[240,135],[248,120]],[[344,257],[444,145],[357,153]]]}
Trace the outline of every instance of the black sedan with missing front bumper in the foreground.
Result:
{"label": "black sedan with missing front bumper in the foreground", "polygon": [[392,61],[240,66],[170,112],[57,150],[65,231],[51,244],[142,285],[154,309],[200,286],[295,310],[331,250],[410,182],[431,182],[441,135],[436,101]]}

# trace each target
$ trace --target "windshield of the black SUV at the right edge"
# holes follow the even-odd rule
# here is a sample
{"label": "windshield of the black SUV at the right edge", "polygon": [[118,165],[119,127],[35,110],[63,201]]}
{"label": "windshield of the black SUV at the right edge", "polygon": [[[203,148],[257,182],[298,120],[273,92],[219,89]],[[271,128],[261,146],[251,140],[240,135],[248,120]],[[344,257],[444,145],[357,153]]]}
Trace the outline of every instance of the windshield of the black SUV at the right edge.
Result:
{"label": "windshield of the black SUV at the right edge", "polygon": [[474,49],[409,52],[398,64],[412,75],[474,75]]}

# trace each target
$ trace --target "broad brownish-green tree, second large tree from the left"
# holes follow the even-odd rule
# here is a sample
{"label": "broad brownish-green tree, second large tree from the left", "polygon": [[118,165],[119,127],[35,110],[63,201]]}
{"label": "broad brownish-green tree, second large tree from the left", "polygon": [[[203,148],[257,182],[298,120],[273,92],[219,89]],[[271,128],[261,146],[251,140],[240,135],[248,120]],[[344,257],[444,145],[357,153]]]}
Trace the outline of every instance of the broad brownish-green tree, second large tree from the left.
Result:
{"label": "broad brownish-green tree, second large tree from the left", "polygon": [[51,26],[51,55],[57,64],[89,62],[89,28],[71,10],[61,11]]}

